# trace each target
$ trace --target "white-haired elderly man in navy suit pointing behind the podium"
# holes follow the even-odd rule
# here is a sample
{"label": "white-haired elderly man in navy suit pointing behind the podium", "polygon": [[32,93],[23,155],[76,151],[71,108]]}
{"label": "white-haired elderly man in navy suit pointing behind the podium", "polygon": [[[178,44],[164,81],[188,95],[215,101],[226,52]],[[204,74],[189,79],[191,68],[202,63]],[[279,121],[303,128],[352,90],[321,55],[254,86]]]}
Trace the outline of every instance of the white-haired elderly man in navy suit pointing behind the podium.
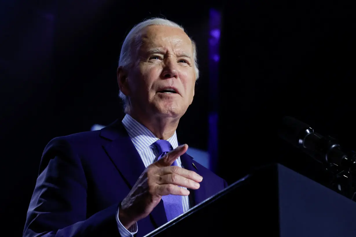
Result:
{"label": "white-haired elderly man in navy suit pointing behind the podium", "polygon": [[49,142],[23,236],[144,236],[227,186],[178,146],[196,58],[174,22],[132,28],[117,69],[124,119]]}

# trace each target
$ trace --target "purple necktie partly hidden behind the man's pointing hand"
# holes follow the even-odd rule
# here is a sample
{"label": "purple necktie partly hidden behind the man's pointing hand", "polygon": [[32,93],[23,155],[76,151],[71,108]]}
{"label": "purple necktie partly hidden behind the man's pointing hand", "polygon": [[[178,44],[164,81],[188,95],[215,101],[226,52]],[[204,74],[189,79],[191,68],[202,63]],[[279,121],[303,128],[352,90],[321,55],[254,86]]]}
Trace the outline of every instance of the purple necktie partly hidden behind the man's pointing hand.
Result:
{"label": "purple necktie partly hidden behind the man's pointing hand", "polygon": [[[156,146],[158,153],[158,160],[161,159],[167,152],[172,150],[172,146],[167,140],[158,140],[153,145]],[[172,166],[177,166],[175,160]],[[164,210],[166,211],[167,220],[170,221],[183,213],[182,196],[180,195],[165,195],[162,196]]]}

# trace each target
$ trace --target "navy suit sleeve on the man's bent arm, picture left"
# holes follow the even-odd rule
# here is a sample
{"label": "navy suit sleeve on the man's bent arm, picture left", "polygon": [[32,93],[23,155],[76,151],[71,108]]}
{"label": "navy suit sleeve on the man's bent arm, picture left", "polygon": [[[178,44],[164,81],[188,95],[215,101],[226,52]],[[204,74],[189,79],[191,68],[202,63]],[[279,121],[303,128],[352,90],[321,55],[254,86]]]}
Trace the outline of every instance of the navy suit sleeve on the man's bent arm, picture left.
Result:
{"label": "navy suit sleeve on the man's bent arm, picture left", "polygon": [[24,237],[120,236],[119,204],[87,217],[87,181],[79,157],[63,138],[46,146],[40,163]]}

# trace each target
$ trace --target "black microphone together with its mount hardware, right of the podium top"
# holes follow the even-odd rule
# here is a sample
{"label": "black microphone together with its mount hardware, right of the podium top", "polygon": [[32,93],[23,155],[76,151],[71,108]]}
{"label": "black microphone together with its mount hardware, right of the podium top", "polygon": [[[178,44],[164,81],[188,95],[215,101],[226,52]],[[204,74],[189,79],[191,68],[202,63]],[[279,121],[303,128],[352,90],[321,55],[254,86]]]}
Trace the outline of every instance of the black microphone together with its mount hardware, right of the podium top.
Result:
{"label": "black microphone together with its mount hardware, right of the podium top", "polygon": [[356,199],[356,152],[344,151],[335,138],[315,133],[309,125],[292,117],[283,118],[279,136],[322,163],[330,174],[333,189]]}

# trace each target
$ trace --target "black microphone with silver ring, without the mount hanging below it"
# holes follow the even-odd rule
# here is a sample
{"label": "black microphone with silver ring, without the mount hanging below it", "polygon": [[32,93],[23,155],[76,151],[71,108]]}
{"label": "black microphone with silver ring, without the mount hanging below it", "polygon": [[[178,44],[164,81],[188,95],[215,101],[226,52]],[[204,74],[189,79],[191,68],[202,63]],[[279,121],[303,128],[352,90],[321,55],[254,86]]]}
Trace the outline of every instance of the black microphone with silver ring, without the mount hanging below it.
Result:
{"label": "black microphone with silver ring, without the mount hanging below it", "polygon": [[278,135],[321,163],[336,165],[344,169],[354,170],[356,168],[354,157],[350,158],[347,153],[343,152],[334,138],[315,133],[308,124],[295,118],[283,117]]}

